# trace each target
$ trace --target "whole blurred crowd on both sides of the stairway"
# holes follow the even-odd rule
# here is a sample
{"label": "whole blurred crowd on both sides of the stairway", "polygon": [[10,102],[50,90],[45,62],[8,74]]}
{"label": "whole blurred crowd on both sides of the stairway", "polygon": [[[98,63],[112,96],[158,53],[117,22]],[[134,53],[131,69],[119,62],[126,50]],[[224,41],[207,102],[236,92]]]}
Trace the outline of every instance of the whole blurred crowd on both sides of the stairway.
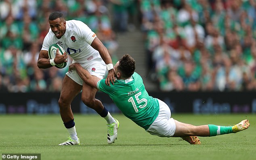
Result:
{"label": "whole blurred crowd on both sides of the stairway", "polygon": [[138,16],[148,74],[162,91],[256,90],[256,0],[1,0],[0,91],[60,91],[68,65],[36,64],[56,10],[86,23],[113,63],[115,33]]}

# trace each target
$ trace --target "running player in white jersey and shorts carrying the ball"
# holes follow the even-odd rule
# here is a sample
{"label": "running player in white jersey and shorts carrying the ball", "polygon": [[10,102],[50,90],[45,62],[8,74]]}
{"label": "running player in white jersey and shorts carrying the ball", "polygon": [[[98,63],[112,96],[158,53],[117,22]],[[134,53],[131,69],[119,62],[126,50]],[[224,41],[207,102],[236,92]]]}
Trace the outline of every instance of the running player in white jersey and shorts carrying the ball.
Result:
{"label": "running player in white jersey and shorts carrying the ball", "polygon": [[[61,12],[52,12],[49,15],[50,29],[38,56],[38,67],[46,69],[56,64],[67,62],[67,54],[94,77],[102,79],[108,69],[106,85],[113,83],[115,76],[113,64],[107,48],[97,38],[97,35],[83,22],[65,21]],[[48,48],[52,44],[59,44],[64,48],[63,55],[56,54],[54,59],[49,59]],[[59,50],[57,50],[59,52]],[[107,121],[107,143],[111,144],[117,138],[119,122],[111,116],[101,101],[95,98],[97,89],[84,83],[76,71],[66,73],[59,98],[59,107],[62,121],[69,133],[69,139],[59,145],[77,145],[80,139],[76,133],[71,102],[82,90],[82,102],[94,109]]]}

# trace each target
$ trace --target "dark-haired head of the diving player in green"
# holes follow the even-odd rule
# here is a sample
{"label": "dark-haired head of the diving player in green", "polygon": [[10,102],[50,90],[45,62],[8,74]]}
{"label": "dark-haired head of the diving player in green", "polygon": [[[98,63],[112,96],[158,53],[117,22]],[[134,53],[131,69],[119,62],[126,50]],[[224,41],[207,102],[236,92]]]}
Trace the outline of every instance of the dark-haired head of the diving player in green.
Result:
{"label": "dark-haired head of the diving player in green", "polygon": [[129,54],[125,54],[119,60],[119,65],[117,68],[121,72],[121,76],[123,78],[129,78],[135,71],[135,60]]}

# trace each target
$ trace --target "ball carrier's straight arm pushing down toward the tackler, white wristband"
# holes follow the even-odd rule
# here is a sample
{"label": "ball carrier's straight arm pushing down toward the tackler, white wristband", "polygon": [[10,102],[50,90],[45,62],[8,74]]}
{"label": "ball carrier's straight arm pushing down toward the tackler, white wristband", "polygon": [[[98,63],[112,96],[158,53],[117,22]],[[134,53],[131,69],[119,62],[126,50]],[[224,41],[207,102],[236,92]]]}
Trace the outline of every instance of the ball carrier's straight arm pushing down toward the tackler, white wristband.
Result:
{"label": "ball carrier's straight arm pushing down toward the tackler, white wristband", "polygon": [[92,48],[95,50],[98,50],[101,58],[104,60],[104,62],[107,64],[107,69],[109,71],[107,78],[105,80],[106,85],[110,86],[110,81],[112,84],[114,84],[115,79],[115,72],[113,69],[113,63],[111,56],[109,55],[109,52],[107,51],[107,48],[103,45],[103,43],[100,41],[98,37],[95,37],[91,44]]}

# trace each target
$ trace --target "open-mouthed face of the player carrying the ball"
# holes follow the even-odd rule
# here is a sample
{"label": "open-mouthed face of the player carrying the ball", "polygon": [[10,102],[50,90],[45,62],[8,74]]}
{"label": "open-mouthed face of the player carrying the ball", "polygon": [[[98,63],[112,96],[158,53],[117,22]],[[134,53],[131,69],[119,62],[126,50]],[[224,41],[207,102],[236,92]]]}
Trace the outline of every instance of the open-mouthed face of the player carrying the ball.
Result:
{"label": "open-mouthed face of the player carrying the ball", "polygon": [[57,18],[55,20],[49,20],[50,29],[55,36],[60,39],[66,31],[66,21],[64,19]]}

